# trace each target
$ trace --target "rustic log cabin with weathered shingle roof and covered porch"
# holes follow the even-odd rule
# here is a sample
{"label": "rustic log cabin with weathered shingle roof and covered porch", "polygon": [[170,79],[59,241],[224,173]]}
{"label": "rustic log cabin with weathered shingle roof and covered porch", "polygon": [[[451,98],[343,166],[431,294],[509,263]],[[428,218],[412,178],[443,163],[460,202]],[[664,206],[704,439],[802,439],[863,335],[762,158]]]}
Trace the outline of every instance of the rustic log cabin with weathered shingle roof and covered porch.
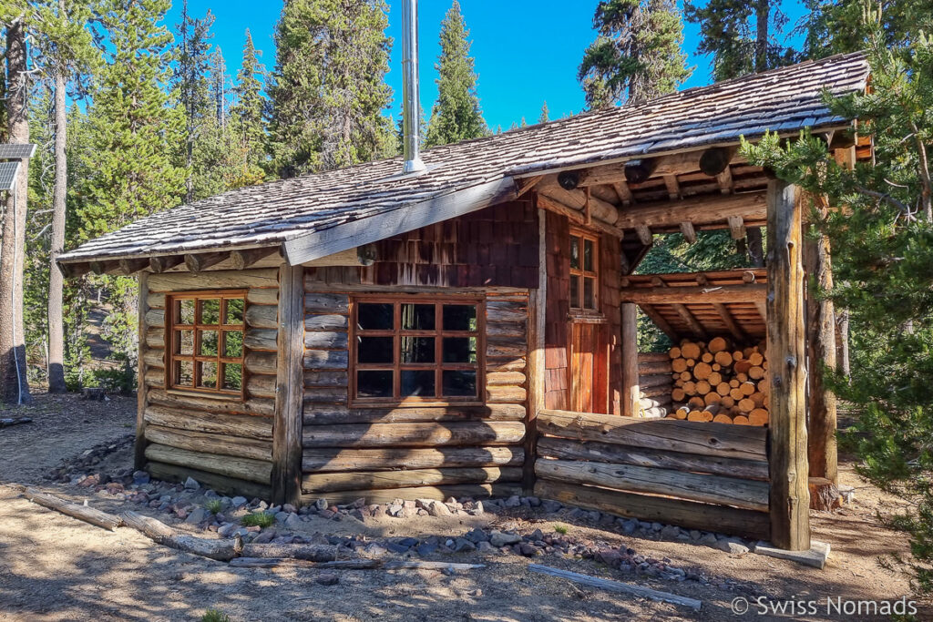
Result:
{"label": "rustic log cabin with weathered shingle roof and covered porch", "polygon": [[[808,476],[836,476],[835,410],[807,374],[832,310],[803,265],[825,282],[829,247],[804,242],[799,189],[737,147],[809,128],[867,157],[823,90],[868,73],[834,56],[424,152],[407,123],[403,157],[152,214],[59,262],[139,279],[154,477],[293,504],[534,491],[806,549]],[[764,226],[764,269],[634,274],[656,234]],[[675,344],[759,346],[767,421],[668,418],[674,359],[708,379],[716,352],[638,352],[639,313]]]}

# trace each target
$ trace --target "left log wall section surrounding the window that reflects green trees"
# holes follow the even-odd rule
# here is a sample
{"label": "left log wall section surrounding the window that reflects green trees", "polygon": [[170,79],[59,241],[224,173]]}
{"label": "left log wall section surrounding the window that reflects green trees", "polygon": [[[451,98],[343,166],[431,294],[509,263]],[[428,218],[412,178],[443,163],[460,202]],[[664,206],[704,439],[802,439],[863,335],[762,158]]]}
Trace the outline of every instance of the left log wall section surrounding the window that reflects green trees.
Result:
{"label": "left log wall section surrounding the window that reflects green trees", "polygon": [[[279,269],[148,274],[140,339],[137,466],[216,491],[269,499],[276,400]],[[172,292],[246,289],[244,401],[166,390],[165,300]]]}

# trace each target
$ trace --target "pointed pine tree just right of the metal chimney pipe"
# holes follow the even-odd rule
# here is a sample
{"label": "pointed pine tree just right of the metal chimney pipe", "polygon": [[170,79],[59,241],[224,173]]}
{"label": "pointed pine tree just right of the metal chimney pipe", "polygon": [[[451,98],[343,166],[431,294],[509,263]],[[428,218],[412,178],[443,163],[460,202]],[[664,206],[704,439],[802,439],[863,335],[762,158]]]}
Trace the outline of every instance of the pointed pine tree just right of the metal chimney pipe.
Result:
{"label": "pointed pine tree just right of the metal chimney pipe", "polygon": [[427,146],[447,145],[488,133],[480,111],[468,36],[460,3],[453,0],[440,22],[440,56],[434,65],[439,74],[438,100],[425,131]]}

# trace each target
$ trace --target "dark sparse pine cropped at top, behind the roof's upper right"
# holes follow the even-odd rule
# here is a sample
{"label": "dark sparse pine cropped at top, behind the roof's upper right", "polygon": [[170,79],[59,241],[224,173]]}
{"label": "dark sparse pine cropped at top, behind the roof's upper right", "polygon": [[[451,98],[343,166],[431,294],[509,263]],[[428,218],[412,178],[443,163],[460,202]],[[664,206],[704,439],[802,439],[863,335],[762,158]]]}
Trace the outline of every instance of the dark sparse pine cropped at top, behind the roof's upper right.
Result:
{"label": "dark sparse pine cropped at top, behind the roof's upper right", "polygon": [[684,15],[700,24],[697,51],[713,55],[717,81],[798,60],[793,49],[775,42],[787,23],[779,0],[708,0],[705,7],[685,0]]}

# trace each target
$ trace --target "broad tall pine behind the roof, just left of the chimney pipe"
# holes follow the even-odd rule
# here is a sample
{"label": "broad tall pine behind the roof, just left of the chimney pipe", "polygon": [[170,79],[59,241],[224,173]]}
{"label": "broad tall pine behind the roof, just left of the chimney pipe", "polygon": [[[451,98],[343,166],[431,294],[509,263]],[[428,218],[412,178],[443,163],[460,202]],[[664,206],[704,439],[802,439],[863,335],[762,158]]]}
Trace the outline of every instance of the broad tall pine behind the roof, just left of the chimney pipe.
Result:
{"label": "broad tall pine behind the roof, just left of the chimney pipe", "polygon": [[275,32],[272,168],[283,176],[385,155],[391,41],[383,0],[288,0]]}

